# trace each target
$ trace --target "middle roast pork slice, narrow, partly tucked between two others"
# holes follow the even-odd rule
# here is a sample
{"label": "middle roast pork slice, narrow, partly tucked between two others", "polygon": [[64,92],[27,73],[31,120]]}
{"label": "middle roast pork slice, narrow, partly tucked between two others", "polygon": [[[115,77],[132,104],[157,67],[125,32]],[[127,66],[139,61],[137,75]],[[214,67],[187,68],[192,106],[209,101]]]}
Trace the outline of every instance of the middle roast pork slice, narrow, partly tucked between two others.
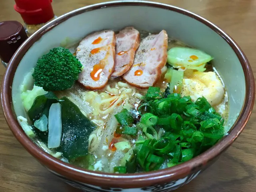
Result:
{"label": "middle roast pork slice, narrow, partly tucked between two others", "polygon": [[133,27],[126,27],[116,34],[115,69],[112,77],[122,76],[130,69],[139,45],[140,33]]}

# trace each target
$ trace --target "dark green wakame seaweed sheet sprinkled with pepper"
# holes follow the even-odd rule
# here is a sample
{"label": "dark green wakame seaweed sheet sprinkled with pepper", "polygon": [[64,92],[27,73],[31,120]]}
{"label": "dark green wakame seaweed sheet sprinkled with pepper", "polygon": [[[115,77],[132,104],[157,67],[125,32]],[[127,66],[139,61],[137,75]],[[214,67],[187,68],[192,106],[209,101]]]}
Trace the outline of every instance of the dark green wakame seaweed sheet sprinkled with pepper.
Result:
{"label": "dark green wakame seaweed sheet sprinkled with pepper", "polygon": [[[56,150],[62,152],[70,162],[74,162],[77,158],[88,154],[88,138],[96,128],[96,125],[82,114],[78,106],[66,97],[58,99],[54,93],[48,92],[34,100],[28,116],[33,123],[43,115],[48,118],[51,104],[57,102],[61,104],[62,138],[60,147]],[[35,129],[35,132],[43,142],[47,143],[48,131],[41,132]]]}

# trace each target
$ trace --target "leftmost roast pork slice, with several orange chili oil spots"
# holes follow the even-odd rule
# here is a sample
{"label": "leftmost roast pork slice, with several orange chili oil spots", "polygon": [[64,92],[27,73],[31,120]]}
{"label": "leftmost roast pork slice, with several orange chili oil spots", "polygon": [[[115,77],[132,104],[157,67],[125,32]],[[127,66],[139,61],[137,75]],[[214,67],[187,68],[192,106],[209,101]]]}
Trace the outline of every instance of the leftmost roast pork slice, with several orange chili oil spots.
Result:
{"label": "leftmost roast pork slice, with several orange chili oil spots", "polygon": [[114,71],[116,38],[113,31],[94,32],[76,49],[76,57],[84,66],[78,82],[92,90],[104,88]]}

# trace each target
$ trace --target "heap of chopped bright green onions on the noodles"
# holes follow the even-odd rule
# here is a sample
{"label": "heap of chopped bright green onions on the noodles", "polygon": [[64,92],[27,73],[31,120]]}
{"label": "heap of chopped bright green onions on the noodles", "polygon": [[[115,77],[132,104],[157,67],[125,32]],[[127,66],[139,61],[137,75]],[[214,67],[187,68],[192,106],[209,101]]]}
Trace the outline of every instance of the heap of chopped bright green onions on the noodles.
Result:
{"label": "heap of chopped bright green onions on the noodles", "polygon": [[[224,136],[224,120],[206,98],[193,102],[190,96],[165,95],[156,88],[150,89],[148,95],[141,104],[147,107],[147,112],[136,124],[144,133],[135,143],[134,163],[138,168],[150,171],[159,169],[164,161],[168,161],[168,167],[186,162]],[[158,136],[156,130],[165,130],[165,133]]]}

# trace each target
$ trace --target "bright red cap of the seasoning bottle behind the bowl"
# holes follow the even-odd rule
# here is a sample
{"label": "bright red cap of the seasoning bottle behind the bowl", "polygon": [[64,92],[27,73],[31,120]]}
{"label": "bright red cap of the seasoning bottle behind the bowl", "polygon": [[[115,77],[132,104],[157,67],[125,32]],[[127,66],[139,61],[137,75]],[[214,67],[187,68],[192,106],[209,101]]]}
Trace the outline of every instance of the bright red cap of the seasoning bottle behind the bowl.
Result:
{"label": "bright red cap of the seasoning bottle behind the bowl", "polygon": [[14,9],[26,24],[46,23],[54,17],[52,0],[15,0]]}

